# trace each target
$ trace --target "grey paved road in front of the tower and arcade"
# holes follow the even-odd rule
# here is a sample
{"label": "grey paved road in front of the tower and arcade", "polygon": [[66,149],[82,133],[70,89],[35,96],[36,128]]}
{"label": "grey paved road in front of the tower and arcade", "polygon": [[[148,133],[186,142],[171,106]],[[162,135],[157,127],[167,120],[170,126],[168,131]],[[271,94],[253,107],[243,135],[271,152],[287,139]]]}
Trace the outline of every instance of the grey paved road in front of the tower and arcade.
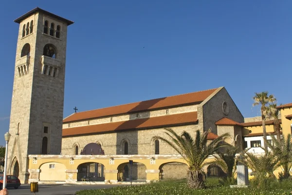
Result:
{"label": "grey paved road in front of the tower and arcade", "polygon": [[[112,188],[119,185],[100,184],[100,185],[55,185],[55,184],[39,184],[38,193],[36,195],[75,195],[75,192],[85,189],[103,189]],[[30,185],[23,184],[17,190],[8,188],[9,195],[33,195],[30,192]]]}

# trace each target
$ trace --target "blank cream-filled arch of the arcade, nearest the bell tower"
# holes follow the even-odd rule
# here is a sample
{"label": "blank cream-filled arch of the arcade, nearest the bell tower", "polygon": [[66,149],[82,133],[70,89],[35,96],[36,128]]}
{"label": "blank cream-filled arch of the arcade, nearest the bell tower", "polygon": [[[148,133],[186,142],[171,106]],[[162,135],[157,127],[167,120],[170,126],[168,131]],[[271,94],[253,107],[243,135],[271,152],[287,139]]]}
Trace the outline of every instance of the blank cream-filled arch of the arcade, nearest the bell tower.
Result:
{"label": "blank cream-filled arch of the arcade, nearest the bell tower", "polygon": [[40,181],[65,181],[66,180],[66,166],[59,162],[45,162],[39,166],[39,180]]}

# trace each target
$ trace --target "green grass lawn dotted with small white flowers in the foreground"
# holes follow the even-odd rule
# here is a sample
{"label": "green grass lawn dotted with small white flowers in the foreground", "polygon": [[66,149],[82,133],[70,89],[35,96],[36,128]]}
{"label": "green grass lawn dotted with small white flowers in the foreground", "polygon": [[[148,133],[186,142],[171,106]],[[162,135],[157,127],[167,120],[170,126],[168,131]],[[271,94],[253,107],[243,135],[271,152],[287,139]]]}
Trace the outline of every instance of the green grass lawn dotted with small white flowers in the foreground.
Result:
{"label": "green grass lawn dotted with small white flowers in the foreground", "polygon": [[274,183],[270,189],[230,188],[220,184],[219,179],[207,179],[207,189],[191,190],[185,180],[160,181],[143,185],[121,186],[102,190],[81,190],[76,195],[292,195],[292,181]]}

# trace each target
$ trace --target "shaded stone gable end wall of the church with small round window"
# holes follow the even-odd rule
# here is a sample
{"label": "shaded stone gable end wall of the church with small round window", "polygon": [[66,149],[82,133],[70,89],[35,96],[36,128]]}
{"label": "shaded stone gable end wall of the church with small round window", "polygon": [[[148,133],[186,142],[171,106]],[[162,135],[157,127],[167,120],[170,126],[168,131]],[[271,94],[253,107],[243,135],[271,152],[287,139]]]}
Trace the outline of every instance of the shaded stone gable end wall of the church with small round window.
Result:
{"label": "shaded stone gable end wall of the church with small round window", "polygon": [[[228,114],[223,113],[222,104],[226,102],[228,105]],[[223,117],[230,118],[237,122],[244,122],[244,118],[240,111],[238,110],[236,104],[229,96],[225,87],[219,90],[218,93],[215,94],[211,99],[209,99],[203,106],[203,129],[204,131],[212,128],[212,132],[217,133],[217,125],[215,122]]]}

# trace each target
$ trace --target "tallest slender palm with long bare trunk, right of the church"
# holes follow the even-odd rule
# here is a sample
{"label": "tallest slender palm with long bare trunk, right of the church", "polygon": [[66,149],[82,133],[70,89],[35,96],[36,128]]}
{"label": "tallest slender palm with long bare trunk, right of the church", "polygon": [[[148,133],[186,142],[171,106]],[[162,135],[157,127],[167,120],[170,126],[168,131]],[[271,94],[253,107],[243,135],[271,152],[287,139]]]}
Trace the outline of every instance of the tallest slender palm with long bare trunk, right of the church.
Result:
{"label": "tallest slender palm with long bare trunk, right of the church", "polygon": [[[263,124],[263,137],[264,139],[267,139],[267,132],[266,132],[266,114],[267,114],[267,105],[269,103],[273,103],[276,98],[274,95],[269,95],[269,92],[261,92],[261,93],[255,93],[256,95],[253,97],[254,103],[253,106],[261,105],[260,112],[261,112],[261,118],[262,118],[262,124]],[[268,151],[267,144],[264,143],[265,151]]]}

